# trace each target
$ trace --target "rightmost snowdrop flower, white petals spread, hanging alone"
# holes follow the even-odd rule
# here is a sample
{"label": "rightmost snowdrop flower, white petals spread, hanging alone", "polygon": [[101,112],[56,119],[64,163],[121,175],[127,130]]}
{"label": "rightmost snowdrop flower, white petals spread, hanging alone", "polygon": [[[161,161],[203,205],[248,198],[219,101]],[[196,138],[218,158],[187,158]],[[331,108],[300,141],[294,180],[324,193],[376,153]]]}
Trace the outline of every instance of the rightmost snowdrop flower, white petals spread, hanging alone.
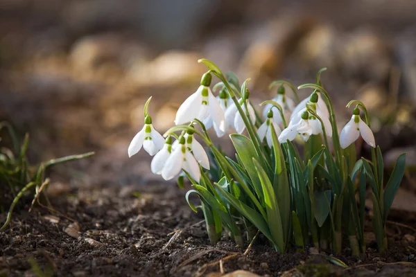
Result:
{"label": "rightmost snowdrop flower, white petals spread, hanging alone", "polygon": [[374,134],[370,127],[361,119],[360,110],[354,109],[352,117],[349,122],[343,127],[340,134],[340,145],[341,148],[345,149],[351,143],[354,143],[360,136],[363,137],[364,141],[372,148],[376,147],[376,141],[374,140]]}

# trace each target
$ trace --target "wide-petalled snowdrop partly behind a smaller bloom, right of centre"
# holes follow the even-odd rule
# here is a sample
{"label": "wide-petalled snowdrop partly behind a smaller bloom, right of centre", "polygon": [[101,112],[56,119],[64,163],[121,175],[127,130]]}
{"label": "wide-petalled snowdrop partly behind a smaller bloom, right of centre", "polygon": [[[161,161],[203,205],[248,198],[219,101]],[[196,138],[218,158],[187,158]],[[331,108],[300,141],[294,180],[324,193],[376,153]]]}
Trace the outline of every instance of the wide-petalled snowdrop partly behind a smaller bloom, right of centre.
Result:
{"label": "wide-petalled snowdrop partly behind a smaller bloom, right of centre", "polygon": [[[319,105],[319,101],[320,101],[319,99],[320,99],[320,94],[318,94],[318,92],[312,93],[311,97],[309,98],[309,101],[305,102],[304,108],[300,109],[300,111],[298,111],[297,114],[295,115],[296,109],[300,107],[298,105],[295,111],[293,111],[292,119],[289,125],[295,125],[296,123],[300,122],[302,114],[304,113],[304,111],[306,111],[306,105],[309,105],[309,107],[311,107],[311,109],[314,109],[316,114],[321,118],[322,123],[324,123],[325,133],[327,134],[327,136],[332,137],[332,125],[331,125],[331,122],[329,121],[329,112],[327,109],[327,105],[325,104]],[[323,107],[325,107],[325,109],[321,108],[322,105],[324,105]],[[311,125],[312,134],[322,134],[322,125],[320,123],[320,120],[318,120],[318,118],[315,118],[315,116],[310,115],[309,125]]]}

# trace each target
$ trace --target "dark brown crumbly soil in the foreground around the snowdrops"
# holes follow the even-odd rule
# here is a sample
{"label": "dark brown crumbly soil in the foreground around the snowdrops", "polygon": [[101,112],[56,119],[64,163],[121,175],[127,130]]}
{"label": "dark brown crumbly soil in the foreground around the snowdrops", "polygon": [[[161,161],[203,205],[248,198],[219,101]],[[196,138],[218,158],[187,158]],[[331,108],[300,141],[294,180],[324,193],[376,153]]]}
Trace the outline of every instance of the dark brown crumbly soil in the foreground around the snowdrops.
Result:
{"label": "dark brown crumbly soil in the foreground around the snowdrops", "polygon": [[[132,196],[136,191],[140,197]],[[344,269],[309,249],[279,255],[261,236],[246,256],[245,249],[237,248],[227,236],[213,247],[202,214],[191,211],[185,191],[174,184],[73,193],[77,197],[52,199],[62,214],[42,207],[28,213],[31,199],[26,199],[8,229],[0,233],[0,276],[33,276],[31,258],[42,270],[53,269],[55,276],[207,276],[220,271],[221,258],[225,273],[244,269],[261,276],[285,271],[289,271],[286,276],[301,272],[304,276],[416,276],[416,269],[410,267],[416,262],[416,243],[406,227],[389,225],[390,247],[385,253],[375,251],[375,242],[360,257],[352,257],[346,248],[336,256],[351,267]],[[5,217],[0,215],[1,222]],[[53,221],[57,219],[58,223]],[[78,228],[69,219],[78,222],[79,238],[65,233],[69,224]],[[414,221],[401,222],[416,227]],[[211,262],[217,263],[208,266]]]}

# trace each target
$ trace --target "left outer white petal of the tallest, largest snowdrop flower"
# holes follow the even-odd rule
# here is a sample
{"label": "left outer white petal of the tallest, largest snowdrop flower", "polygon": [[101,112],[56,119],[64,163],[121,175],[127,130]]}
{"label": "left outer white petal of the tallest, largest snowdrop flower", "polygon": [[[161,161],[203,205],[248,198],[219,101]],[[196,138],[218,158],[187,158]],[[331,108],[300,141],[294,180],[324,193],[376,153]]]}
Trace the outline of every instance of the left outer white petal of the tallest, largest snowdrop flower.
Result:
{"label": "left outer white petal of the tallest, largest snowdrop flower", "polygon": [[177,109],[175,118],[176,125],[187,123],[198,117],[201,109],[202,89],[203,86],[200,86],[198,90],[191,94],[191,96],[180,105],[179,109]]}

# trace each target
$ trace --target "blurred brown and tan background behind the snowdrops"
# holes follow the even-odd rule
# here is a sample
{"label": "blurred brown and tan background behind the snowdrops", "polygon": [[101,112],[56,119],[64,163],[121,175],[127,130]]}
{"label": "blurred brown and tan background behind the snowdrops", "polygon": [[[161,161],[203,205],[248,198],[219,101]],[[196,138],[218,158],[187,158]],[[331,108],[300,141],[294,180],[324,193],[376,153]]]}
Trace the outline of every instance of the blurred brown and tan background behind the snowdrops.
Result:
{"label": "blurred brown and tan background behind the snowdrops", "polygon": [[31,133],[34,161],[95,150],[58,172],[87,172],[86,186],[159,180],[145,152],[128,160],[128,144],[149,96],[159,132],[173,125],[206,71],[199,58],[252,78],[254,102],[274,95],[272,80],[314,82],[327,66],[340,125],[347,102],[362,100],[385,160],[407,151],[415,165],[415,10],[413,0],[0,0],[0,121]]}

